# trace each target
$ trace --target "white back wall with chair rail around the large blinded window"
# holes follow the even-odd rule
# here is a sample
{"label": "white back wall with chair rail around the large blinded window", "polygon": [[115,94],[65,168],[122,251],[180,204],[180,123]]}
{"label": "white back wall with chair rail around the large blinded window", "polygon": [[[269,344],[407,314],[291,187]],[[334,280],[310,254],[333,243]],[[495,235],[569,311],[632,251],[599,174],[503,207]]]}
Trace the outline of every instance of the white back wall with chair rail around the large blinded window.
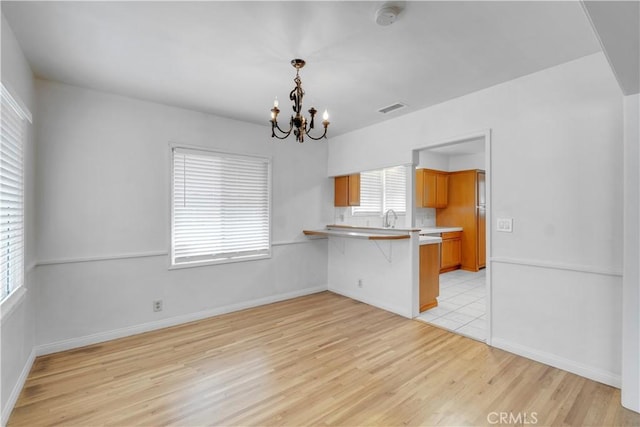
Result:
{"label": "white back wall with chair rail around the large blinded window", "polygon": [[[48,81],[36,94],[39,353],[327,288],[327,242],[302,234],[333,214],[324,142]],[[169,142],[272,156],[272,259],[168,271]]]}

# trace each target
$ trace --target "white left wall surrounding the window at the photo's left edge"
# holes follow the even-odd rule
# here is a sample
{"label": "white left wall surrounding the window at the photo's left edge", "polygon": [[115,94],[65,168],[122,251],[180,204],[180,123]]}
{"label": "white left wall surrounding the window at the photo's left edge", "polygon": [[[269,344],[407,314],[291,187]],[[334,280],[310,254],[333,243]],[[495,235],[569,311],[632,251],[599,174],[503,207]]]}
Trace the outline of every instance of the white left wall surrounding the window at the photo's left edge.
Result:
{"label": "white left wall surrounding the window at the photo's left edge", "polygon": [[[2,83],[33,113],[33,74],[18,42],[2,16]],[[37,120],[37,117],[34,117]],[[34,280],[35,203],[32,126],[27,125],[24,147],[25,283],[2,304],[0,323],[0,419],[4,425],[33,363],[35,344]],[[11,305],[7,309],[7,305]]]}

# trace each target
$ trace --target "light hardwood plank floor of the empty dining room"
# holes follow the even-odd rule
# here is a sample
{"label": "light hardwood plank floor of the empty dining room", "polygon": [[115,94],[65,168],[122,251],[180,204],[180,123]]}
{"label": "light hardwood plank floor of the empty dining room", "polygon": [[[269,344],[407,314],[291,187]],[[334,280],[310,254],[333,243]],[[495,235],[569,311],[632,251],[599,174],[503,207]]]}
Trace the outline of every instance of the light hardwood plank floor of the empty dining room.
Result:
{"label": "light hardwood plank floor of the empty dining room", "polygon": [[619,402],[615,388],[323,292],[38,357],[9,425],[488,425],[501,412],[639,425]]}

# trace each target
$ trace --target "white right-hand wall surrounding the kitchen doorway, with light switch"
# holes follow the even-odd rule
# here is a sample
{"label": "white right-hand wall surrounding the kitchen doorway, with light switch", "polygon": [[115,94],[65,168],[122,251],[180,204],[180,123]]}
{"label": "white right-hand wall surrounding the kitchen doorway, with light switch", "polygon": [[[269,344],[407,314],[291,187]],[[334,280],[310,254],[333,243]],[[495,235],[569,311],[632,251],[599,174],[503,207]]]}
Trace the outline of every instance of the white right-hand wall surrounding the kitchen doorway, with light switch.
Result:
{"label": "white right-hand wall surrounding the kitchen doorway, with light switch", "polygon": [[490,343],[619,386],[622,96],[604,55],[335,137],[328,174],[485,129],[492,214],[514,218],[513,233],[489,225]]}

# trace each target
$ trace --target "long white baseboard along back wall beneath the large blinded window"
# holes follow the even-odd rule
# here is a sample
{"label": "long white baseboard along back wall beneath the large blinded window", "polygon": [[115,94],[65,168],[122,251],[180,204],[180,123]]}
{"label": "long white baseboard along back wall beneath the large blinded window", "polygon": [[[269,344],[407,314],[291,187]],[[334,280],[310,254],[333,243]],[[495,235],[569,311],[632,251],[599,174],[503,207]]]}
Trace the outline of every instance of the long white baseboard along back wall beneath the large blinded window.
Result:
{"label": "long white baseboard along back wall beneath the large blinded window", "polygon": [[143,332],[154,331],[156,329],[176,326],[183,323],[193,322],[195,320],[206,319],[207,317],[218,316],[221,314],[231,313],[234,311],[244,310],[247,308],[258,307],[265,304],[271,304],[278,301],[284,301],[292,298],[311,295],[327,290],[327,286],[317,286],[313,288],[300,289],[293,292],[271,295],[264,298],[258,298],[251,301],[243,301],[236,304],[216,307],[211,310],[203,310],[196,313],[189,313],[180,316],[170,317],[167,319],[157,320],[154,322],[142,323],[139,325],[128,326],[126,328],[114,329],[111,331],[99,332],[97,334],[85,335],[83,337],[71,338],[68,340],[56,341],[49,344],[38,345],[35,348],[36,355],[57,353],[59,351],[71,350],[78,347],[97,344],[105,341],[111,341],[117,338],[128,337]]}

